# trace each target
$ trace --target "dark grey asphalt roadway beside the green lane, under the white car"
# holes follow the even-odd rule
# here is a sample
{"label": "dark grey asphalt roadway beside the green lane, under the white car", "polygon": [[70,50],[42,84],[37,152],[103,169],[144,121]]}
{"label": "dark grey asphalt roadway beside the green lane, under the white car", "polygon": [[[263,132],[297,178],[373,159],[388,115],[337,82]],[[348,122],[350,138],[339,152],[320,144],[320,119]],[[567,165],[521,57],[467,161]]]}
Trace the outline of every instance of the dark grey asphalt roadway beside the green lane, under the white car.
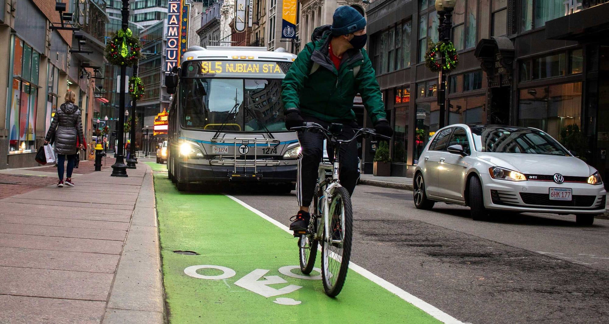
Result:
{"label": "dark grey asphalt roadway beside the green lane, under the white car", "polygon": [[[286,225],[297,211],[295,191],[231,194]],[[572,215],[523,214],[477,222],[465,207],[417,210],[411,197],[356,188],[353,263],[464,323],[609,323],[609,220],[580,227]]]}

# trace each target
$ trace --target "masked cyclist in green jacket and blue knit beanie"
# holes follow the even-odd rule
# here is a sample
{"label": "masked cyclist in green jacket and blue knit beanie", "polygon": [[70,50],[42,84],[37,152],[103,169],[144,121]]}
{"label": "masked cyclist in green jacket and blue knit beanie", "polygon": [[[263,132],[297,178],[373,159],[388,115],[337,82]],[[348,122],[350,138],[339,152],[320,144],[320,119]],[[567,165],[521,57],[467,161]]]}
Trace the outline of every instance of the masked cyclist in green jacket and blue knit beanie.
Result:
{"label": "masked cyclist in green jacket and blue knit beanie", "polygon": [[[364,16],[345,5],[334,12],[332,25],[314,30],[311,43],[298,53],[281,84],[287,129],[305,122],[324,127],[342,123],[342,132],[337,137],[350,139],[354,129],[359,128],[353,112],[353,99],[359,92],[376,133],[392,136],[375,71],[364,50],[365,27]],[[297,178],[300,210],[290,219],[294,221],[290,224],[294,236],[300,236],[308,228],[309,205],[322,160],[323,135],[300,132],[298,141],[302,148]],[[330,150],[328,153],[332,154]],[[340,184],[352,195],[357,181],[357,143],[341,146],[339,154]]]}

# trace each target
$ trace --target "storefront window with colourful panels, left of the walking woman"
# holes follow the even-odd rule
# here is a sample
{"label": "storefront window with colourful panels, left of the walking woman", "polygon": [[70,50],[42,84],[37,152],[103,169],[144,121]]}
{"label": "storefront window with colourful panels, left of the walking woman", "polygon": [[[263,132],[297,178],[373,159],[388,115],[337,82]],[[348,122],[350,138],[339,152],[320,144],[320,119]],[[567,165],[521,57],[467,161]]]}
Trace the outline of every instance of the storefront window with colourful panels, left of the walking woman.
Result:
{"label": "storefront window with colourful panels, left of the walking woman", "polygon": [[16,36],[13,36],[12,45],[9,152],[30,152],[35,146],[40,54]]}

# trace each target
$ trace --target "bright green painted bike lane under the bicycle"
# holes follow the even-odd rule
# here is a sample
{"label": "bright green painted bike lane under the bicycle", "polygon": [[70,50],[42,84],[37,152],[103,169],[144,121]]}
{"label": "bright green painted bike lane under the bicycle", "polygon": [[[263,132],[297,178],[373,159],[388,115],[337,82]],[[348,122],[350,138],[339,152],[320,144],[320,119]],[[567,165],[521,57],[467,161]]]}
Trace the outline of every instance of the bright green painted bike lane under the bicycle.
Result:
{"label": "bright green painted bike lane under the bicycle", "polygon": [[329,298],[320,252],[317,271],[301,274],[297,240],[278,223],[231,196],[177,191],[165,165],[147,163],[169,323],[460,323],[354,264]]}

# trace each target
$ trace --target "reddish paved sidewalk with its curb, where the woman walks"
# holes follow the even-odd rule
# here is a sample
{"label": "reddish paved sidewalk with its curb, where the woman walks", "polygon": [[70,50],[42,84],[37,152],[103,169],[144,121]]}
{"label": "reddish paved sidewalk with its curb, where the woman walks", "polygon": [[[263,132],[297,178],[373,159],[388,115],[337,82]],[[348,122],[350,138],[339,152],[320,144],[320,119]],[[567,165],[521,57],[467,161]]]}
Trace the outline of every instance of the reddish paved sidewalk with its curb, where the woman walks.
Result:
{"label": "reddish paved sidewalk with its curb, where the woman walks", "polygon": [[75,175],[74,188],[18,174],[45,169],[0,174],[19,181],[3,190],[30,191],[0,199],[0,323],[163,323],[150,167]]}

